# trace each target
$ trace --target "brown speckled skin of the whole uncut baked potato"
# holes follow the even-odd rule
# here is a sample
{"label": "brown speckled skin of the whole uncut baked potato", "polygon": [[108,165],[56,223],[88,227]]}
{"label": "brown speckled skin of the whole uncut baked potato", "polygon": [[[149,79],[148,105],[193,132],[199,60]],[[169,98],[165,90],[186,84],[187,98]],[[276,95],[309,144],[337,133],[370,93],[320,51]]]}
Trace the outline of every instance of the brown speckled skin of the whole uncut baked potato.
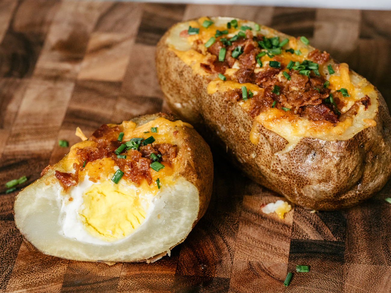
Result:
{"label": "brown speckled skin of the whole uncut baked potato", "polygon": [[391,174],[391,118],[378,91],[375,127],[346,141],[302,138],[290,152],[274,155],[287,141],[260,126],[259,143],[253,145],[249,140],[253,118],[237,103],[225,101],[222,93],[207,93],[216,75],[194,75],[168,50],[169,32],[156,48],[156,70],[167,104],[212,146],[226,151],[255,182],[295,204],[328,211],[357,205],[386,184]]}

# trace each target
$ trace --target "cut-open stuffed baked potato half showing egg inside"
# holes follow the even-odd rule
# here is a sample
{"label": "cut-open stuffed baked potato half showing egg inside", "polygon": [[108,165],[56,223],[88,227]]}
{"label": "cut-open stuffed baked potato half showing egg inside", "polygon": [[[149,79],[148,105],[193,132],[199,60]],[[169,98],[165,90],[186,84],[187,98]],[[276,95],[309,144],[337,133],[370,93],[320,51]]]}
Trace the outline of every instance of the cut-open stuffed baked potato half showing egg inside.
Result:
{"label": "cut-open stuffed baked potato half showing egg inside", "polygon": [[181,243],[212,193],[209,146],[166,114],[102,125],[24,188],[14,204],[23,238],[78,261],[155,261]]}

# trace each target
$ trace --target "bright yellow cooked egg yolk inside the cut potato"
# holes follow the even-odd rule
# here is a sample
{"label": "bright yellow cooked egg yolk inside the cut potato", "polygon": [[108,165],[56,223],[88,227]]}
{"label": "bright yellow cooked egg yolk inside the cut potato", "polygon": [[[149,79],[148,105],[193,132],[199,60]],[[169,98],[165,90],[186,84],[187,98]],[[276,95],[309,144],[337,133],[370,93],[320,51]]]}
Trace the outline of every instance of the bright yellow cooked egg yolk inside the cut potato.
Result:
{"label": "bright yellow cooked egg yolk inside the cut potato", "polygon": [[145,219],[138,198],[137,190],[119,188],[118,184],[106,180],[84,190],[84,205],[79,215],[91,235],[105,241],[122,239]]}

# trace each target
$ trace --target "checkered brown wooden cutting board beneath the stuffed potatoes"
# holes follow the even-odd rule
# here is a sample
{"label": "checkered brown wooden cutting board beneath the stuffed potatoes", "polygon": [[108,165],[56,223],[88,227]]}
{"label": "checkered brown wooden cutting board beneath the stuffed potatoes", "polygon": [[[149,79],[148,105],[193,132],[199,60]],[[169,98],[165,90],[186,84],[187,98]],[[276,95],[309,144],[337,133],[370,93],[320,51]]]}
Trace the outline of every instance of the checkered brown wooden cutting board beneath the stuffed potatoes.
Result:
{"label": "checkered brown wooden cutting board beneath the stuffed potatoes", "polygon": [[[155,45],[172,24],[201,15],[247,18],[347,62],[391,100],[391,12],[0,0],[0,293],[390,292],[389,182],[351,209],[280,220],[261,204],[283,199],[214,154],[208,211],[184,243],[153,264],[69,261],[29,249],[13,222],[14,193],[104,123],[168,111],[154,70]],[[390,104],[389,104],[390,105]],[[21,187],[23,187],[21,186]],[[309,273],[294,273],[296,264]]]}

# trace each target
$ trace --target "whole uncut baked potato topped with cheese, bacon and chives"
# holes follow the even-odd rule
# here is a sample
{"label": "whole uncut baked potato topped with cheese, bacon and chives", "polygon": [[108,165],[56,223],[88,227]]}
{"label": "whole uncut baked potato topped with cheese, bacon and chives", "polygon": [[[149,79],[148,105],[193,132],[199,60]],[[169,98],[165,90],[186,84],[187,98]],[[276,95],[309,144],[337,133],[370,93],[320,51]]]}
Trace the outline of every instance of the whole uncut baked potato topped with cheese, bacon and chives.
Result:
{"label": "whole uncut baked potato topped with cheese, bacon and chives", "polygon": [[348,64],[252,21],[202,17],[156,48],[172,111],[248,177],[315,210],[359,204],[391,172],[382,95]]}

